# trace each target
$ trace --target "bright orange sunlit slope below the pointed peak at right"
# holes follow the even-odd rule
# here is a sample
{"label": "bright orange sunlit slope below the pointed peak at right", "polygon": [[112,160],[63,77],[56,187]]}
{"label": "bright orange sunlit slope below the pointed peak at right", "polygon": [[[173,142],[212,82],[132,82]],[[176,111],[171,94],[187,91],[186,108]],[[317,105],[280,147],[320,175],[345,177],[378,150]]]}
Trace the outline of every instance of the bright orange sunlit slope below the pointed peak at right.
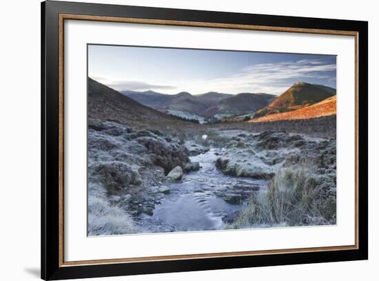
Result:
{"label": "bright orange sunlit slope below the pointed peak at right", "polygon": [[334,115],[337,112],[337,96],[331,96],[325,98],[325,100],[315,103],[313,105],[307,105],[299,110],[293,110],[291,112],[275,113],[254,118],[249,123],[254,122],[267,122],[267,121],[279,121],[279,120],[297,120],[297,119],[309,119],[317,118],[321,116]]}

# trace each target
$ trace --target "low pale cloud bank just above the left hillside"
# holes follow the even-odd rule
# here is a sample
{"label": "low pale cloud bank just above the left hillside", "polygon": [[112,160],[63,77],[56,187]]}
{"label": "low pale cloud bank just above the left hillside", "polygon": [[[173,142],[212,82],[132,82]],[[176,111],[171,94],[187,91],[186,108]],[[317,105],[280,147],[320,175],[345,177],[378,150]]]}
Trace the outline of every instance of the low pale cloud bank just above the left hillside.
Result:
{"label": "low pale cloud bank just above the left hillside", "polygon": [[103,83],[108,87],[117,91],[145,91],[145,90],[172,90],[176,87],[172,85],[154,85],[143,81],[113,81],[104,77],[92,77],[99,83]]}

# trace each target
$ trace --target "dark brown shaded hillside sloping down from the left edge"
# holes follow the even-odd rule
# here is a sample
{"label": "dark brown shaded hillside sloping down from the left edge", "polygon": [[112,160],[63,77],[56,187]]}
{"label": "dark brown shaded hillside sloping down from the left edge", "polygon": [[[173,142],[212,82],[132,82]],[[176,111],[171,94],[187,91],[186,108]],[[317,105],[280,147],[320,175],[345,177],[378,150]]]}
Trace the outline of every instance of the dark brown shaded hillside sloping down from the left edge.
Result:
{"label": "dark brown shaded hillside sloping down from the left edge", "polygon": [[110,87],[88,78],[88,117],[101,121],[115,120],[123,123],[182,123],[151,107],[141,105]]}

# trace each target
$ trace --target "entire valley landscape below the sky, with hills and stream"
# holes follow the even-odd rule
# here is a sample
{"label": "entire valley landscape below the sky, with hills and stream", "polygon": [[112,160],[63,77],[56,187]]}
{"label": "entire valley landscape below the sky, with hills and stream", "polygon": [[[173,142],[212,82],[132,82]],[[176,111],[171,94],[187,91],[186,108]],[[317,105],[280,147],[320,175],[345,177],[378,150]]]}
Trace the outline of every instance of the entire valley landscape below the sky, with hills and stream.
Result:
{"label": "entire valley landscape below the sky, with hills and stream", "polygon": [[294,87],[170,96],[89,79],[88,234],[336,224],[336,92]]}

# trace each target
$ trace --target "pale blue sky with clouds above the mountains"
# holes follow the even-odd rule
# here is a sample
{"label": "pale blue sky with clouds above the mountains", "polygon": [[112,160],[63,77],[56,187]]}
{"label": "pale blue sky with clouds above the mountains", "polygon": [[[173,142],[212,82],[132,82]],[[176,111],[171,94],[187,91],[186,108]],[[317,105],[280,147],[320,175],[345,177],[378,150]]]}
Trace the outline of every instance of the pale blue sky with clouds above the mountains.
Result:
{"label": "pale blue sky with clouds above the mountains", "polygon": [[336,56],[88,45],[88,76],[117,91],[282,94],[303,81],[336,87]]}

